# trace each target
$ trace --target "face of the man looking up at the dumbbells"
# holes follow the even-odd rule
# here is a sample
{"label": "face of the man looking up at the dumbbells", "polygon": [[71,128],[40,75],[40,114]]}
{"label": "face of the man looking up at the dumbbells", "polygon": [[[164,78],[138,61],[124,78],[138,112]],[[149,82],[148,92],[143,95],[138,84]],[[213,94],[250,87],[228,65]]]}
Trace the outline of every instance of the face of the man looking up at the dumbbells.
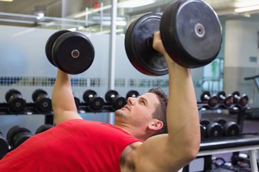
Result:
{"label": "face of the man looking up at the dumbbells", "polygon": [[145,127],[153,120],[152,114],[159,104],[157,96],[146,93],[137,98],[128,98],[128,103],[115,111],[115,123],[127,123],[134,127]]}

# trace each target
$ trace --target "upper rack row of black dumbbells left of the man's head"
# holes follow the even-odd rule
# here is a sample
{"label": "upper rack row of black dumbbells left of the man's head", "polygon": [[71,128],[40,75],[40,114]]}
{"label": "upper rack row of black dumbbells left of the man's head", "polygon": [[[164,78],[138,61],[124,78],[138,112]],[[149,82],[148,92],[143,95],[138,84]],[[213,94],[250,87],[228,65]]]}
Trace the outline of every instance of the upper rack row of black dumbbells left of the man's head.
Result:
{"label": "upper rack row of black dumbbells left of the man's head", "polygon": [[[93,89],[88,89],[81,100],[74,96],[75,104],[79,111],[102,112],[115,111],[126,105],[128,97],[137,97],[139,92],[130,90],[126,96],[119,95],[115,90],[109,90],[105,94],[105,100]],[[0,114],[48,114],[52,111],[51,98],[44,89],[36,89],[32,93],[33,103],[27,103],[21,92],[10,89],[6,92],[6,103],[0,103]]]}

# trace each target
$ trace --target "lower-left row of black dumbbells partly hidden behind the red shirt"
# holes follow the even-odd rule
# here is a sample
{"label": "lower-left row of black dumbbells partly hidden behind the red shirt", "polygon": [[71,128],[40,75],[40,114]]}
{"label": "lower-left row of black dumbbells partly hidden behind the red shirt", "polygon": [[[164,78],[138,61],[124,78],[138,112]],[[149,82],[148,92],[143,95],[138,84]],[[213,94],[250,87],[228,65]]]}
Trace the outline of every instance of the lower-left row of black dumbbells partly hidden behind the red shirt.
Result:
{"label": "lower-left row of black dumbbells partly hidden behind the red shirt", "polygon": [[[35,134],[44,132],[50,129],[51,127],[53,126],[50,124],[41,125],[37,128]],[[1,133],[0,131],[0,159],[3,158],[3,156],[6,155],[8,151],[11,151],[12,149],[19,147],[21,143],[23,143],[33,135],[34,133],[32,133],[29,129],[21,127],[19,125],[11,127],[8,130],[6,136],[3,136],[3,133]]]}

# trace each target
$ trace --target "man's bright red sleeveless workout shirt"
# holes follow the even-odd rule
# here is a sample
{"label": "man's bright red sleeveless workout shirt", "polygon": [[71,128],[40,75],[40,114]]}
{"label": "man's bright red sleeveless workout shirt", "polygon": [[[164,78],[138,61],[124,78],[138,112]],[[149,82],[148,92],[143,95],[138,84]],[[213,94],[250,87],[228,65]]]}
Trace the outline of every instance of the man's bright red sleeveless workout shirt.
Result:
{"label": "man's bright red sleeveless workout shirt", "polygon": [[116,172],[128,144],[141,142],[104,122],[67,120],[32,136],[0,160],[0,171]]}

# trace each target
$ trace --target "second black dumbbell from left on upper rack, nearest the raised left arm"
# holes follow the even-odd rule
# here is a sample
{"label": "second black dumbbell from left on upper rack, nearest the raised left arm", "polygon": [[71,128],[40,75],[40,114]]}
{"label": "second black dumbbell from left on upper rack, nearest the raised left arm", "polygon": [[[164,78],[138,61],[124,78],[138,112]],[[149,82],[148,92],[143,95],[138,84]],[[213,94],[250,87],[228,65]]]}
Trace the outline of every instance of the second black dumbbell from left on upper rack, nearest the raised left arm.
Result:
{"label": "second black dumbbell from left on upper rack, nearest the raised left arm", "polygon": [[52,109],[51,98],[44,89],[36,89],[32,93],[32,100],[35,103],[37,111],[50,112]]}

